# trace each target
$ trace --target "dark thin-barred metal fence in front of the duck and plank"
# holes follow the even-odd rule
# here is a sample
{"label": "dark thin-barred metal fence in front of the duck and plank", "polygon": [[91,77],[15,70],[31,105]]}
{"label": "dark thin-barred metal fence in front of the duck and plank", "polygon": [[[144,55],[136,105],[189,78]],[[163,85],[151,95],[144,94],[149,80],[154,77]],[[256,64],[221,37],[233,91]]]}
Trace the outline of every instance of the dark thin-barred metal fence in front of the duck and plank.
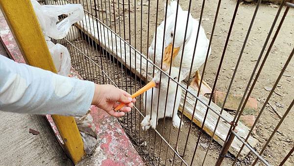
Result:
{"label": "dark thin-barred metal fence in front of the duck and plank", "polygon": [[[283,165],[288,158],[293,162],[293,130],[288,133],[289,138],[281,136],[289,139],[289,148],[282,148],[280,153],[278,141],[272,140],[281,133],[279,129],[285,119],[293,120],[291,86],[285,85],[286,89],[290,87],[287,94],[278,91],[285,77],[290,84],[294,81],[287,74],[294,67],[293,40],[283,48],[276,45],[283,36],[293,39],[291,29],[290,33],[283,32],[284,23],[289,23],[293,16],[293,3],[282,0],[272,9],[270,21],[266,22],[268,29],[258,36],[259,24],[264,21],[260,20],[259,12],[265,8],[261,0],[251,4],[246,18],[239,17],[245,10],[241,0],[225,1],[230,4],[221,0],[175,2],[172,7],[168,0],[43,1],[83,5],[84,20],[75,24],[65,39],[56,41],[69,49],[72,66],[83,79],[113,84],[130,94],[153,78],[159,83],[159,87],[139,96],[135,108],[119,118],[147,165],[260,162],[270,166]],[[174,9],[172,14],[169,7]],[[280,49],[283,52],[277,51]],[[171,57],[167,50],[171,50]],[[195,67],[197,62],[202,67]],[[267,82],[266,77],[270,78],[270,88],[264,92],[258,87],[263,85],[259,82]],[[211,92],[203,94],[203,86]],[[221,106],[213,102],[215,90],[224,91]],[[225,109],[230,93],[242,94],[233,112]],[[252,125],[246,127],[240,119],[251,96],[261,96],[261,106]],[[270,105],[276,97],[287,103],[278,116],[271,114],[275,123],[270,123],[269,130],[255,132],[256,128],[266,126],[269,109],[277,112]],[[289,123],[286,126],[290,127]],[[270,141],[278,144],[271,150]],[[278,160],[273,159],[276,156]]]}

